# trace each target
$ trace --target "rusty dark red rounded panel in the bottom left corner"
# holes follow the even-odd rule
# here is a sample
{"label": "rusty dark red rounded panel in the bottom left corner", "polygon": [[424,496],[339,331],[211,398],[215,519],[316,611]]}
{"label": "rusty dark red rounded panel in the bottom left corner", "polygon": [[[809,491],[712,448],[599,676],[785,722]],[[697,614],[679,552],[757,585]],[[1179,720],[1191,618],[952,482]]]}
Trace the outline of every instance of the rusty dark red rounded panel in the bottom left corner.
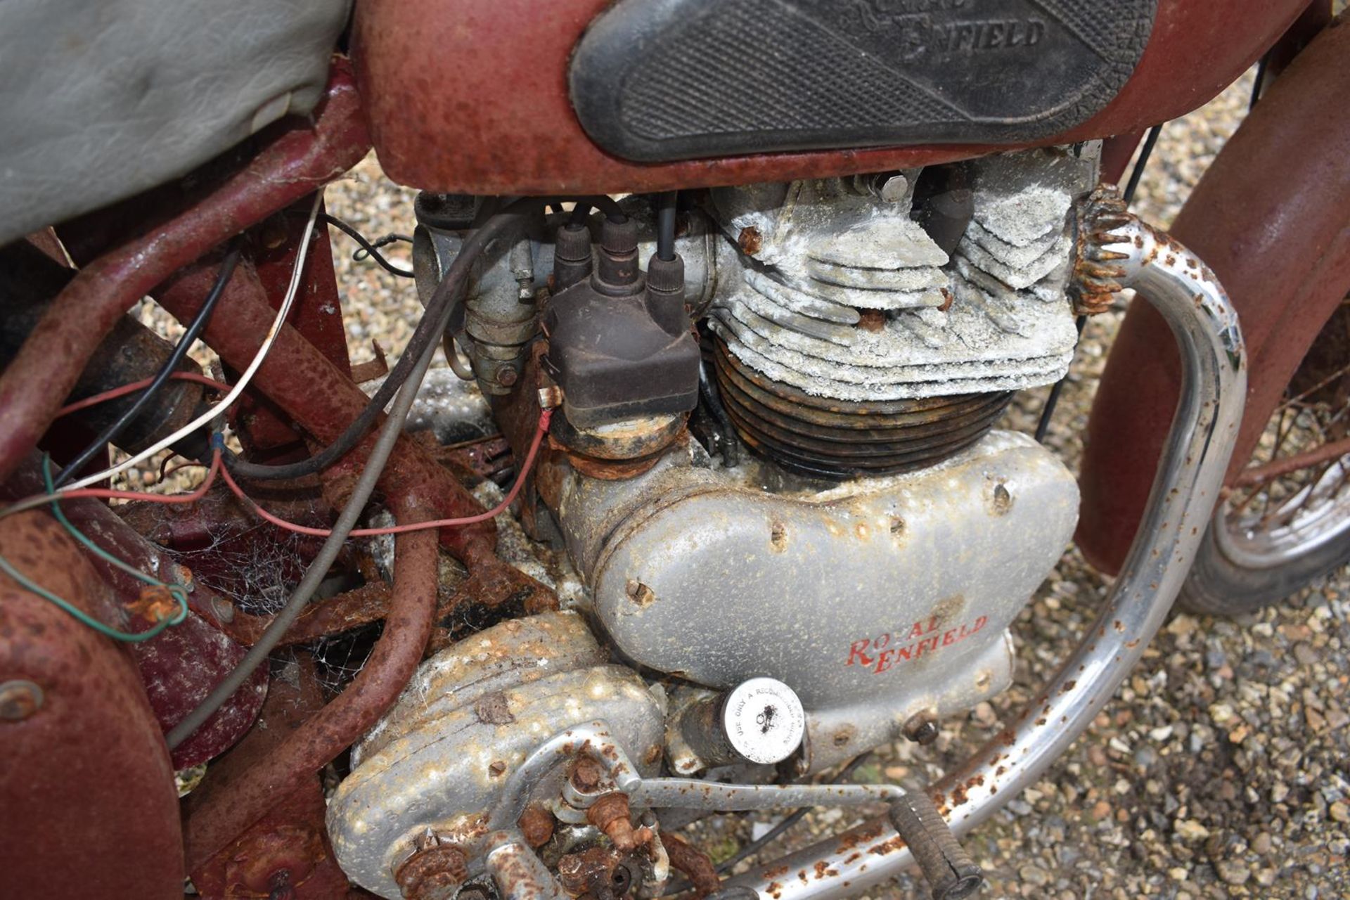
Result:
{"label": "rusty dark red rounded panel in the bottom left corner", "polygon": [[[0,551],[85,613],[117,621],[93,567],[46,513],[0,521]],[[131,654],[3,575],[0,607],[3,677],[40,687],[35,714],[0,731],[0,893],[180,896],[173,765]]]}

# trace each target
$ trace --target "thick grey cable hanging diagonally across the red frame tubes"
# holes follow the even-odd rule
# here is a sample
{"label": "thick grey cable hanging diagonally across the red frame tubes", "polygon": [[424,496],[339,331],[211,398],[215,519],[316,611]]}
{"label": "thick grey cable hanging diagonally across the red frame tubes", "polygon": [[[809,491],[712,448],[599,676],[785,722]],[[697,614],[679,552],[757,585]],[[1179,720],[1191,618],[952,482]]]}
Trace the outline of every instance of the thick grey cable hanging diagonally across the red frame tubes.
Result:
{"label": "thick grey cable hanging diagonally across the red frame tubes", "polygon": [[300,579],[300,584],[296,590],[290,592],[290,599],[286,600],[286,606],[277,613],[267,630],[262,633],[258,642],[248,648],[248,653],[244,658],[239,661],[225,677],[211,694],[196,706],[184,719],[173,726],[169,734],[165,737],[169,743],[169,749],[173,750],[180,743],[186,741],[197,729],[200,729],[207,719],[215,715],[225,700],[234,696],[235,691],[248,680],[248,676],[254,673],[254,669],[262,664],[263,660],[275,649],[281,642],[281,638],[290,629],[292,623],[309,603],[309,599],[315,595],[319,588],[319,583],[323,582],[324,576],[328,575],[328,569],[332,567],[333,561],[338,559],[338,553],[342,552],[343,544],[347,541],[347,534],[351,529],[356,526],[356,519],[360,513],[366,509],[366,502],[370,501],[370,495],[375,491],[375,483],[385,471],[385,464],[389,461],[390,453],[394,451],[394,444],[398,441],[400,434],[404,432],[404,422],[408,420],[408,413],[413,407],[413,401],[417,398],[417,390],[421,387],[423,379],[427,376],[427,370],[431,367],[431,360],[436,355],[436,341],[427,344],[423,355],[417,359],[412,374],[408,381],[398,390],[398,397],[394,398],[394,405],[389,410],[389,418],[385,420],[385,425],[379,429],[379,437],[375,439],[375,445],[370,451],[370,456],[366,460],[366,467],[360,472],[360,478],[356,479],[356,486],[351,491],[351,498],[348,498],[347,505],[343,506],[342,513],[338,515],[338,522],[333,525],[332,533],[324,541],[324,545],[319,549],[315,561],[309,564],[305,569],[304,578]]}

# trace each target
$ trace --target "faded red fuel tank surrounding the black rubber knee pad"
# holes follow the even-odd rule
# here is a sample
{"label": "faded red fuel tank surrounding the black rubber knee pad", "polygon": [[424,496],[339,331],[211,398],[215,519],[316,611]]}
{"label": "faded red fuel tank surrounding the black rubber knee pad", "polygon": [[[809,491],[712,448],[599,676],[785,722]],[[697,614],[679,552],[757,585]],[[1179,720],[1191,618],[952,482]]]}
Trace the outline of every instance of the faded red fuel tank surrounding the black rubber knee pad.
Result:
{"label": "faded red fuel tank surrounding the black rubber knee pad", "polygon": [[[358,0],[352,55],[385,171],[400,184],[443,193],[652,192],[886,171],[1027,143],[1127,134],[1212,99],[1261,57],[1307,0],[1158,0],[1142,58],[1123,88],[1087,121],[1037,140],[657,163],[601,150],[572,105],[568,78],[578,42],[612,5],[612,0]],[[933,8],[927,1],[852,5]],[[984,8],[976,0],[940,5]],[[1080,31],[1092,27],[1096,9],[1058,7],[1069,9],[1061,15],[1079,19]]]}

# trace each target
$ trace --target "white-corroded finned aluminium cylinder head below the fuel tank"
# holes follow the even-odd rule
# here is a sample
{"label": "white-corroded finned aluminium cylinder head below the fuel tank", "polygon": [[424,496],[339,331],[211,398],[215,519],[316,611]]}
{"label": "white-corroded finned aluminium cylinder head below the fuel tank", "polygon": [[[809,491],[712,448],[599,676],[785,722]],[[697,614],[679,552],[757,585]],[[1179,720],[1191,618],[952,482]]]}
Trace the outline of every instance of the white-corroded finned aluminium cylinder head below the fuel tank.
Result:
{"label": "white-corroded finned aluminium cylinder head below the fuel tank", "polygon": [[879,197],[842,179],[714,192],[726,240],[713,329],[744,366],[817,397],[1057,381],[1076,341],[1069,208],[1095,182],[1098,147],[1002,154],[967,170],[973,213],[956,220],[964,232],[950,254],[911,215],[919,170],[891,179],[907,190]]}

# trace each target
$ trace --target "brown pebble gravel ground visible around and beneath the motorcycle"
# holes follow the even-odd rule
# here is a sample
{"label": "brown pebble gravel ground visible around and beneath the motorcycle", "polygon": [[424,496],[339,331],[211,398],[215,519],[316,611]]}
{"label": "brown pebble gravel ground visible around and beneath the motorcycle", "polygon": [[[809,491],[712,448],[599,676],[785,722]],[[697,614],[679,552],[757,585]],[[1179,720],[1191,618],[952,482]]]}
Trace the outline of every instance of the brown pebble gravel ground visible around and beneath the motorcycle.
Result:
{"label": "brown pebble gravel ground visible around and beneath the motorcycle", "polygon": [[[1137,208],[1170,223],[1189,186],[1237,127],[1250,74],[1204,109],[1168,124]],[[374,237],[409,233],[413,192],[390,185],[371,158],[328,192],[329,210]],[[397,354],[418,306],[409,282],[338,240],[354,359],[370,340]],[[390,250],[404,264],[406,252]],[[1050,445],[1072,466],[1081,449],[1096,378],[1119,324],[1107,314],[1084,333]],[[1010,425],[1030,430],[1045,391],[1019,397]],[[934,779],[1015,714],[1061,658],[1107,591],[1069,551],[1015,626],[1018,679],[992,704],[949,722],[933,748],[886,749],[861,780]],[[1174,615],[1139,667],[1034,788],[967,839],[990,876],[984,897],[1062,900],[1350,896],[1350,571],[1242,619]],[[770,853],[836,831],[853,819],[826,811]],[[764,823],[721,819],[699,833],[722,860]],[[770,858],[770,857],[764,857]],[[873,897],[926,896],[902,880]]]}

